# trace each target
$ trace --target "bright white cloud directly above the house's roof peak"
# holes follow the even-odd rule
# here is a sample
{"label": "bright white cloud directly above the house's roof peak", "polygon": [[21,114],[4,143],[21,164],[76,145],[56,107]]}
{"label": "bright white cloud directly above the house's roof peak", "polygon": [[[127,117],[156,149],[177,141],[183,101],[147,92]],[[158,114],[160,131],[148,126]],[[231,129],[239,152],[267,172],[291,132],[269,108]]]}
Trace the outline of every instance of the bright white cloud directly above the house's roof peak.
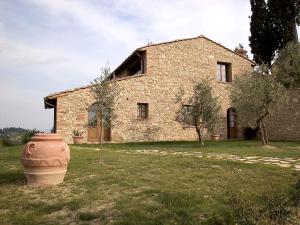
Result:
{"label": "bright white cloud directly above the house's roof peak", "polygon": [[248,48],[250,4],[236,0],[113,1],[154,42],[204,34],[227,47]]}

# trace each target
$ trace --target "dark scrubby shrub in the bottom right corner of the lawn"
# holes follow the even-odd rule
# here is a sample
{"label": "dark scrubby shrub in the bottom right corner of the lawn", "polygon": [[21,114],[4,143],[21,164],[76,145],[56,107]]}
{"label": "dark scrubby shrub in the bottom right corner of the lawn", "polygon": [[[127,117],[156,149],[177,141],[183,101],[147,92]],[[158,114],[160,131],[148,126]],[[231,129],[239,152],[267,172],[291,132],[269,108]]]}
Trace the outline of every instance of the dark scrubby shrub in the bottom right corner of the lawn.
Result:
{"label": "dark scrubby shrub in the bottom right corner of the lawn", "polygon": [[[229,193],[230,212],[220,210],[218,214],[209,217],[203,225],[285,225],[291,224],[295,217],[295,207],[300,206],[300,180],[292,188],[272,189],[254,198],[246,191]],[[294,207],[294,208],[293,208]],[[293,223],[294,224],[294,223]]]}

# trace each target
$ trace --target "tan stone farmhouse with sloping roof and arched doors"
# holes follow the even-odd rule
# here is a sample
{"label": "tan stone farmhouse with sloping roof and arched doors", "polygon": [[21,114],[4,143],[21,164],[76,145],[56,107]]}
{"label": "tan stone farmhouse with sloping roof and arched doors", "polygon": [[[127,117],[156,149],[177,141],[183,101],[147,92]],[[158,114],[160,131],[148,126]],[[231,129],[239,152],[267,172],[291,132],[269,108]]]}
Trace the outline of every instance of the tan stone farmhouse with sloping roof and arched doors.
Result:
{"label": "tan stone farmhouse with sloping roof and arched doors", "polygon": [[[176,121],[180,87],[191,93],[200,77],[211,80],[221,104],[218,132],[223,139],[242,138],[228,88],[236,76],[255,65],[244,52],[232,51],[205,36],[151,44],[133,51],[114,71],[121,93],[115,104],[116,125],[105,129],[112,142],[196,140],[194,127]],[[45,108],[54,108],[54,130],[69,143],[75,129],[87,142],[97,142],[100,128],[92,125],[90,86],[50,94]],[[86,126],[86,124],[89,124]]]}

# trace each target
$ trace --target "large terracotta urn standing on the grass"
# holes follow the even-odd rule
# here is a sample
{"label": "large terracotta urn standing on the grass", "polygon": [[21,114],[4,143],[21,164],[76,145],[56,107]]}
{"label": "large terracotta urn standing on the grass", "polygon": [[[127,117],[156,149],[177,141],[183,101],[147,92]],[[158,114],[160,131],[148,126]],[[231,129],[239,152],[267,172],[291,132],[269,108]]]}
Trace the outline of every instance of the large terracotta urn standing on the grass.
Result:
{"label": "large terracotta urn standing on the grass", "polygon": [[70,149],[57,134],[38,133],[28,142],[21,162],[29,185],[55,185],[63,182],[70,161]]}

